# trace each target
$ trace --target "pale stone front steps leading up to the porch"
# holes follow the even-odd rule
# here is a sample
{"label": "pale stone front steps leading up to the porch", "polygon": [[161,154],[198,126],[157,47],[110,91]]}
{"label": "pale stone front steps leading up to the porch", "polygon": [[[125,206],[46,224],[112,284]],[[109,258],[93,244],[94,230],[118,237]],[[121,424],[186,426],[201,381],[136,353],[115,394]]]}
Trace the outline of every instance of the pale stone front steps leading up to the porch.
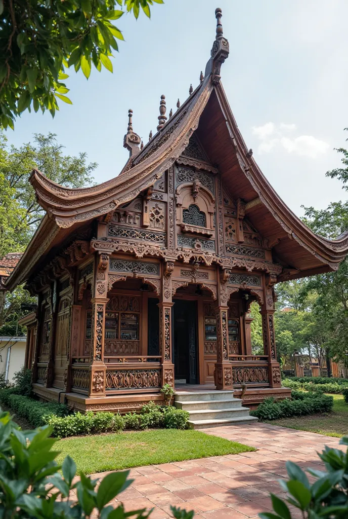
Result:
{"label": "pale stone front steps leading up to the porch", "polygon": [[222,427],[227,425],[252,424],[257,421],[249,416],[249,408],[233,397],[233,391],[199,390],[175,393],[175,406],[190,413],[192,429]]}

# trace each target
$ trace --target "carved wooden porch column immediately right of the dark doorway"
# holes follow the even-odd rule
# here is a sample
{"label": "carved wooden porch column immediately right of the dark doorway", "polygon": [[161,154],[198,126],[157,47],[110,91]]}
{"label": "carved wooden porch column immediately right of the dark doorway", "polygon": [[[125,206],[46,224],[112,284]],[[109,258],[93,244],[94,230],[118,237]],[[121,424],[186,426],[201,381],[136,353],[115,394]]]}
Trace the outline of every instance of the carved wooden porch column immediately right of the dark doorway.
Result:
{"label": "carved wooden porch column immediately right of the dark doorway", "polygon": [[228,360],[228,295],[227,277],[225,273],[219,275],[219,306],[216,309],[216,363],[215,386],[216,389],[232,389],[232,364]]}

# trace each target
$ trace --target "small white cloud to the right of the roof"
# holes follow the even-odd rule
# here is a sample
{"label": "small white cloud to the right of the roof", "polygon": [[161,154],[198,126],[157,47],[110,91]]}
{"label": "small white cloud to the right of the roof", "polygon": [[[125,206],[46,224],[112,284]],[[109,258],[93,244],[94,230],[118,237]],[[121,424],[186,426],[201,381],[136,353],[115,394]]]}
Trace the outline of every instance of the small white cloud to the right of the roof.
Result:
{"label": "small white cloud to the right of the roof", "polygon": [[258,146],[258,153],[270,153],[273,149],[283,148],[287,153],[316,158],[328,151],[329,144],[316,139],[312,135],[289,137],[288,133],[295,130],[295,124],[284,122],[281,122],[278,127],[273,122],[266,122],[262,126],[253,126],[253,134],[261,141]]}

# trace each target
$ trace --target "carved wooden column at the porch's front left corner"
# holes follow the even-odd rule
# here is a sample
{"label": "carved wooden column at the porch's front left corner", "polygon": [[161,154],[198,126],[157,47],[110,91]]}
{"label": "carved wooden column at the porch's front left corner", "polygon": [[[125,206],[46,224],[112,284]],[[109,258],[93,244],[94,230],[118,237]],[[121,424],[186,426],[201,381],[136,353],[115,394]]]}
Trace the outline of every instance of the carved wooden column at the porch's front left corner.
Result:
{"label": "carved wooden column at the porch's front left corner", "polygon": [[106,365],[104,364],[105,310],[107,298],[109,254],[97,252],[93,276],[92,345],[89,396],[105,397]]}

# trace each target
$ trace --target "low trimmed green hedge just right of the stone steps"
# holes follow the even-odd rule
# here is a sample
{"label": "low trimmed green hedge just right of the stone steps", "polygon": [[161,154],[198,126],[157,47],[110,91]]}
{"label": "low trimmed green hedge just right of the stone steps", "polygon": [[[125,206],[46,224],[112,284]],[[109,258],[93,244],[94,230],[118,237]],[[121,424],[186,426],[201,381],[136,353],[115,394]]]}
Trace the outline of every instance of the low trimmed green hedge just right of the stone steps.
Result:
{"label": "low trimmed green hedge just right of the stone steps", "polygon": [[334,397],[320,392],[306,393],[293,390],[291,397],[292,400],[285,399],[280,402],[274,402],[273,398],[268,398],[250,414],[257,416],[259,420],[278,420],[291,416],[327,413],[334,405]]}

